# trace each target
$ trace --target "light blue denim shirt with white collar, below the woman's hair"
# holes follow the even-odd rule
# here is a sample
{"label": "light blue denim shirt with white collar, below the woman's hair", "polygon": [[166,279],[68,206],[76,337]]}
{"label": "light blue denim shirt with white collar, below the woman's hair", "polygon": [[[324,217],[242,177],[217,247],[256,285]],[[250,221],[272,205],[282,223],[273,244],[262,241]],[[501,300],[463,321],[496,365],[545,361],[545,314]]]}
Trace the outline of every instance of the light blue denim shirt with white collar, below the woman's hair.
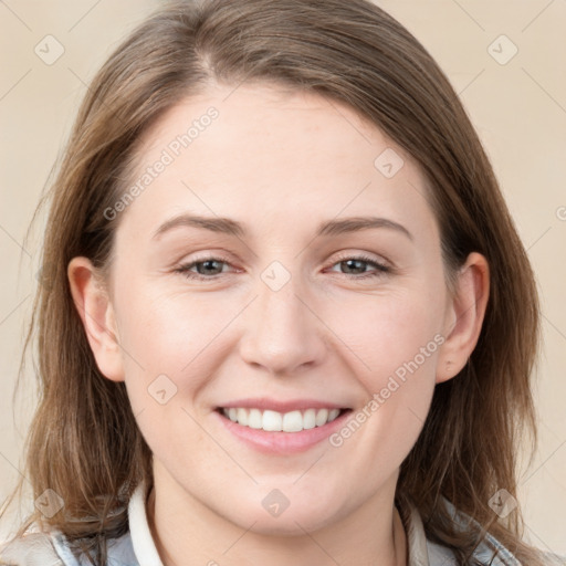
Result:
{"label": "light blue denim shirt with white collar, below the woman's hair", "polygon": [[[119,538],[108,541],[108,566],[164,566],[149,531],[146,514],[146,489],[139,484],[128,503],[129,531]],[[448,501],[454,521],[465,521],[468,516],[458,512]],[[415,505],[399,510],[407,534],[408,566],[455,566],[453,553],[432,543],[424,535],[422,520]],[[494,557],[495,551],[499,555]],[[521,563],[492,535],[486,534],[475,549],[474,558],[482,565],[522,566]],[[547,564],[566,565],[566,558],[547,554]],[[505,559],[505,562],[502,560]],[[50,533],[30,533],[13,543],[0,546],[0,565],[17,566],[87,566],[86,557],[77,559],[64,535],[54,530]],[[213,559],[209,564],[216,564]],[[526,566],[526,565],[525,565]]]}

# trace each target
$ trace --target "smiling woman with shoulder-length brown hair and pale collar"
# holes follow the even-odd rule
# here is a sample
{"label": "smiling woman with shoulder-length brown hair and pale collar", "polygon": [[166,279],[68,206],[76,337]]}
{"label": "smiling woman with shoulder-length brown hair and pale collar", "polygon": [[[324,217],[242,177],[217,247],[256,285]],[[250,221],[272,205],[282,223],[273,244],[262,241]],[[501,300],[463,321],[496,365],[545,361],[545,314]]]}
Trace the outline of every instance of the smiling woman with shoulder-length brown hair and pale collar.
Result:
{"label": "smiling woman with shoulder-length brown hair and pale collar", "polygon": [[38,511],[2,564],[562,563],[515,499],[533,272],[458,96],[382,10],[160,9],[51,198]]}

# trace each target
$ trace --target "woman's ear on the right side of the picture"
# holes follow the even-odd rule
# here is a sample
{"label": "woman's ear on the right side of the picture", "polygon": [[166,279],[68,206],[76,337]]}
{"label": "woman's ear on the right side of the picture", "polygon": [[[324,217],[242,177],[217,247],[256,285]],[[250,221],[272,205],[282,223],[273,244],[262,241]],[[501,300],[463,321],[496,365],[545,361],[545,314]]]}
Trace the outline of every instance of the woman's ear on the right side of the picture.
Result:
{"label": "woman's ear on the right side of the picture", "polygon": [[481,253],[472,252],[459,270],[453,295],[448,297],[437,384],[457,376],[468,363],[480,337],[489,296],[488,260]]}

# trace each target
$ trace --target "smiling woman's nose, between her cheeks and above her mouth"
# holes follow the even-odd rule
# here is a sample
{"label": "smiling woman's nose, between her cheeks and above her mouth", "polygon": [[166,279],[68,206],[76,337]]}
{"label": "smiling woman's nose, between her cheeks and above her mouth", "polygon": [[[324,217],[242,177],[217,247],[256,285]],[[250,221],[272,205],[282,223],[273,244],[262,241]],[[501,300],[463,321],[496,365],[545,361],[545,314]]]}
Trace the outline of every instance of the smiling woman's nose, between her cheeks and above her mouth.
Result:
{"label": "smiling woman's nose, between her cheeks and above her mouth", "polygon": [[242,359],[276,377],[315,367],[326,350],[325,325],[297,279],[279,290],[260,279],[258,296],[241,321]]}

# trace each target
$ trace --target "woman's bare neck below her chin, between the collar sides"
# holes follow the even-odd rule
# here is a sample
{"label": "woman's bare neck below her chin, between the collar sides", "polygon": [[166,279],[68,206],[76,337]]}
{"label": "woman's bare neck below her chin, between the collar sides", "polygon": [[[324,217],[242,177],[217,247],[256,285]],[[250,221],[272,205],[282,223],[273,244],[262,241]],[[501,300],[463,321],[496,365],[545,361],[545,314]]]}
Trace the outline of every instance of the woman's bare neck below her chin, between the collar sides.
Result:
{"label": "woman's bare neck below her chin, between the collar sides", "polygon": [[175,486],[170,490],[157,483],[146,506],[164,566],[407,564],[407,538],[392,497],[390,506],[382,506],[382,497],[376,497],[316,531],[273,535],[254,531],[252,524],[248,528],[235,525]]}

